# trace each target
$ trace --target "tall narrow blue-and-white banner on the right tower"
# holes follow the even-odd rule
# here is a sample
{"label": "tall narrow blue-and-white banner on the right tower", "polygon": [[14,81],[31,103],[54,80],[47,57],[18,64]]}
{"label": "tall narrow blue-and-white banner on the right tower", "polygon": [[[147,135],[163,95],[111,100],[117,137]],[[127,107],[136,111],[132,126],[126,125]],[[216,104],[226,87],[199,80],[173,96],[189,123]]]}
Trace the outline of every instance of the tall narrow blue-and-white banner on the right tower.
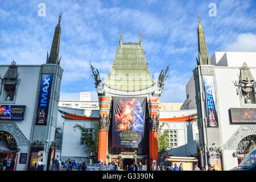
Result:
{"label": "tall narrow blue-and-white banner on the right tower", "polygon": [[214,77],[203,76],[203,79],[208,127],[218,127]]}

